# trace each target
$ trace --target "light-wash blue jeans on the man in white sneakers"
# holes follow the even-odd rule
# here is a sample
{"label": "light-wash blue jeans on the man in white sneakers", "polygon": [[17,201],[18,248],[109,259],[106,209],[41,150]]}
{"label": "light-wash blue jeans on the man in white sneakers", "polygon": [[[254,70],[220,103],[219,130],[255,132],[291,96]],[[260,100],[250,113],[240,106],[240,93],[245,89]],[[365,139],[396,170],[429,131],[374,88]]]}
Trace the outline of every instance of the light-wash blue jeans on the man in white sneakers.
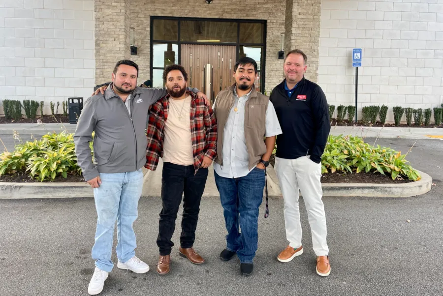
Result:
{"label": "light-wash blue jeans on the man in white sneakers", "polygon": [[97,229],[92,258],[95,266],[110,272],[114,227],[117,220],[117,258],[127,262],[135,256],[135,233],[132,223],[138,216],[138,200],[143,188],[143,172],[100,174],[100,187],[94,188]]}

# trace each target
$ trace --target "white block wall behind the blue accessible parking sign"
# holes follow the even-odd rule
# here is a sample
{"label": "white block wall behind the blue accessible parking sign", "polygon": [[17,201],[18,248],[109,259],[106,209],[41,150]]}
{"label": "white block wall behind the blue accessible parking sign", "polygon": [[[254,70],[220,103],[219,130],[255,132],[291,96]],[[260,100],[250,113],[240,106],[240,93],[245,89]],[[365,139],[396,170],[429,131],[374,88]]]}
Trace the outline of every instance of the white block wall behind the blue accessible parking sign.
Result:
{"label": "white block wall behind the blue accessible parking sign", "polygon": [[329,104],[355,103],[354,47],[363,51],[359,111],[385,104],[393,120],[394,106],[443,103],[442,0],[322,0],[320,28],[318,83]]}

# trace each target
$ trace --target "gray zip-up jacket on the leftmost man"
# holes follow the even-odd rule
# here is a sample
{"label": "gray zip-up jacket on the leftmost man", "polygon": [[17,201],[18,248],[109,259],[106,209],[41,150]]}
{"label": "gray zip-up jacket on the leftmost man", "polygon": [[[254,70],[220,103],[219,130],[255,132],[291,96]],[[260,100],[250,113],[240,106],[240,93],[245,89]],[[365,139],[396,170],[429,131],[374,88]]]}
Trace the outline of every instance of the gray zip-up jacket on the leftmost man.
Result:
{"label": "gray zip-up jacket on the leftmost man", "polygon": [[[198,89],[190,89],[197,93]],[[126,173],[146,163],[145,134],[149,107],[167,94],[166,89],[136,87],[131,95],[131,115],[112,84],[104,95],[90,97],[83,107],[74,134],[77,163],[86,181],[99,173]],[[89,142],[94,135],[94,162]]]}

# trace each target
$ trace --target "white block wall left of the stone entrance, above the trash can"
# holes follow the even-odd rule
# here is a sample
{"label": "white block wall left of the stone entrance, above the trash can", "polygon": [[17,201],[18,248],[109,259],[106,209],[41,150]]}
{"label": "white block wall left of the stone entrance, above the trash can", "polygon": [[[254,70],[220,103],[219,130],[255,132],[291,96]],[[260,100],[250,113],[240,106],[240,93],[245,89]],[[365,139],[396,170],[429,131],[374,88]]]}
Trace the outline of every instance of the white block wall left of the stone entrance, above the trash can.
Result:
{"label": "white block wall left of the stone entrance, above the trash can", "polygon": [[94,0],[0,0],[0,105],[90,96],[94,30]]}

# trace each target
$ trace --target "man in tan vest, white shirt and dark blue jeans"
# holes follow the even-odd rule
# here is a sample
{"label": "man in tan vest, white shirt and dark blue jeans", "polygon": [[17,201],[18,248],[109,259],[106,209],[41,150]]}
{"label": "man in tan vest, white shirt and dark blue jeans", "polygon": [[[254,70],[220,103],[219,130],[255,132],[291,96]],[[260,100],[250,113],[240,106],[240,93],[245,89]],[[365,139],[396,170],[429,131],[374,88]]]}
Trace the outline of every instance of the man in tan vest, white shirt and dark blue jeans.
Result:
{"label": "man in tan vest, white shirt and dark blue jeans", "polygon": [[228,232],[220,259],[228,261],[237,254],[241,274],[250,275],[265,170],[276,135],[282,131],[269,97],[255,90],[255,60],[240,59],[234,66],[234,78],[235,85],[222,90],[213,106],[218,126],[214,175]]}

